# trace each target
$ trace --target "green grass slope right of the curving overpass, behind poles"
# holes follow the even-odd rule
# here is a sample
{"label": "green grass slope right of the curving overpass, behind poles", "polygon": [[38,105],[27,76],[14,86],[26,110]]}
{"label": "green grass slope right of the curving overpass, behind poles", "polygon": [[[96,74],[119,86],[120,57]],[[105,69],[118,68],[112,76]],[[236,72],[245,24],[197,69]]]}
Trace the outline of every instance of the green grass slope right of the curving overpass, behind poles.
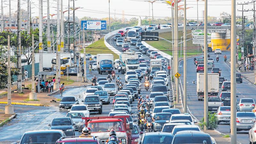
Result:
{"label": "green grass slope right of the curving overpass, behind poles", "polygon": [[[191,33],[191,30],[187,30],[187,34],[190,34],[190,33]],[[179,31],[179,36],[178,36],[179,43],[180,43],[181,36],[183,36],[183,32]],[[172,32],[159,33],[159,37],[163,37],[169,41],[172,41]],[[188,35],[187,39],[190,39],[190,38],[192,38],[192,36]],[[165,41],[165,40],[162,40],[159,38],[159,41],[148,41],[147,43],[160,51],[163,51],[169,55],[172,55],[172,52],[173,52],[172,43],[170,43],[168,41]],[[183,44],[182,44],[182,46],[183,46]],[[181,48],[181,51],[180,51],[180,44],[178,47],[179,47],[178,48],[179,57],[180,57],[180,55],[183,57],[183,47]],[[197,44],[193,44],[192,40],[187,41],[186,50],[187,50],[187,56],[197,55],[197,54],[202,53],[201,47],[197,48]]]}

